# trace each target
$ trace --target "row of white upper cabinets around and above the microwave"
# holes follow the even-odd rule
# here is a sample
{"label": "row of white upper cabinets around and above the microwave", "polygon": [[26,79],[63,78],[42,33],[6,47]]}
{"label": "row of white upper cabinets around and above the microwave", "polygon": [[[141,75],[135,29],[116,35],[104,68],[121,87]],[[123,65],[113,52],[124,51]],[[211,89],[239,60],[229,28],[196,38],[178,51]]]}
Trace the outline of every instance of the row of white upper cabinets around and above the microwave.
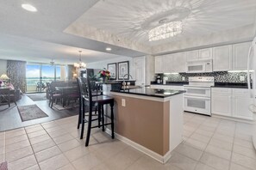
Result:
{"label": "row of white upper cabinets around and above the microwave", "polygon": [[246,42],[156,56],[155,73],[187,72],[187,63],[209,59],[213,59],[213,71],[247,70],[250,46]]}

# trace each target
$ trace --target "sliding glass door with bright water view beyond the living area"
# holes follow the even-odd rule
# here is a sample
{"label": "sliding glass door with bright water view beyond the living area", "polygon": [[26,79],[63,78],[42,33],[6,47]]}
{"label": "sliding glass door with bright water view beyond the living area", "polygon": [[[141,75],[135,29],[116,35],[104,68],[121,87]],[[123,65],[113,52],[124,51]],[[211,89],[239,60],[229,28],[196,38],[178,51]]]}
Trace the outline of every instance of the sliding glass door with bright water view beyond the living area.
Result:
{"label": "sliding glass door with bright water view beyond the living area", "polygon": [[59,81],[60,66],[48,64],[27,64],[27,93],[45,92],[47,82]]}

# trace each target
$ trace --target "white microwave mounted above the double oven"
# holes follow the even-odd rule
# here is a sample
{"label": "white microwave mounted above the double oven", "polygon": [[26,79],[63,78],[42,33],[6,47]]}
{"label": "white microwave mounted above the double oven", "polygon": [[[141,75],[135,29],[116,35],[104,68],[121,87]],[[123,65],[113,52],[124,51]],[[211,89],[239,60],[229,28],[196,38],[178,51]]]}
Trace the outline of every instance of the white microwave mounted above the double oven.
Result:
{"label": "white microwave mounted above the double oven", "polygon": [[187,62],[188,73],[205,73],[212,71],[212,59]]}

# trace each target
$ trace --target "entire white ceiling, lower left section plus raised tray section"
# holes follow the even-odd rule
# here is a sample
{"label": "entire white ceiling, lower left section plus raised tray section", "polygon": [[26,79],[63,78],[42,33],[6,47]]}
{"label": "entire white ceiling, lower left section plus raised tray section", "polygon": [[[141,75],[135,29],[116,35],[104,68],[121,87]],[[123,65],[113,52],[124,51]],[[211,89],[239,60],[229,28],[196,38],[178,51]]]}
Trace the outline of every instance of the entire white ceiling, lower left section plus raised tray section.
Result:
{"label": "entire white ceiling, lower left section plus raised tray section", "polygon": [[[22,3],[34,5],[38,12],[31,13],[22,9]],[[171,15],[174,7],[191,9],[190,15],[183,20],[184,33],[173,39],[149,43],[149,28],[162,15]],[[82,50],[83,61],[91,63],[120,56],[135,57],[146,54],[142,50],[132,50],[134,48],[130,46],[121,46],[119,39],[114,42],[114,35],[129,39],[127,45],[131,46],[136,46],[132,42],[159,46],[253,24],[256,1],[0,0],[0,15],[0,58],[44,63],[53,58],[59,64],[72,64],[78,60],[78,50]],[[66,28],[74,23],[84,23],[103,30],[101,33],[106,33],[106,36],[100,40],[86,38],[78,33],[65,33]],[[80,30],[83,31],[83,28]],[[106,53],[107,46],[113,50]]]}

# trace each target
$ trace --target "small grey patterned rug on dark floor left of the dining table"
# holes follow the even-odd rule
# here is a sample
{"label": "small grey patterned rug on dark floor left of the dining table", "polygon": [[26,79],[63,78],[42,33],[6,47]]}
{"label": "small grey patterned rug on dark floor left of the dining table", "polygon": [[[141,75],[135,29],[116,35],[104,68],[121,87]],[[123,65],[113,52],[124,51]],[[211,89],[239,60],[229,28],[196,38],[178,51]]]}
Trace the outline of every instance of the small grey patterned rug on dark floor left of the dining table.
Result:
{"label": "small grey patterned rug on dark floor left of the dining table", "polygon": [[18,106],[18,111],[22,118],[22,122],[48,117],[48,115],[36,105]]}

